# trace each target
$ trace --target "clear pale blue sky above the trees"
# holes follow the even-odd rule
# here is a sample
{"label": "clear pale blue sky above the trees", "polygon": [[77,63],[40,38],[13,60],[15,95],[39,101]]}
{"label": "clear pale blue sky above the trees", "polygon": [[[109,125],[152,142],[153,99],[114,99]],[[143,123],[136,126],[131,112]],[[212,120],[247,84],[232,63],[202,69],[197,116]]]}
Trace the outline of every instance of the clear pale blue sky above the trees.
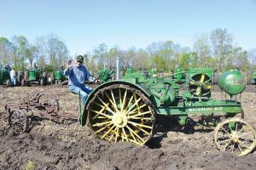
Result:
{"label": "clear pale blue sky above the trees", "polygon": [[217,28],[256,48],[256,0],[0,0],[0,19],[0,37],[35,42],[52,33],[71,55],[101,43],[127,49],[172,40],[193,48],[196,37]]}

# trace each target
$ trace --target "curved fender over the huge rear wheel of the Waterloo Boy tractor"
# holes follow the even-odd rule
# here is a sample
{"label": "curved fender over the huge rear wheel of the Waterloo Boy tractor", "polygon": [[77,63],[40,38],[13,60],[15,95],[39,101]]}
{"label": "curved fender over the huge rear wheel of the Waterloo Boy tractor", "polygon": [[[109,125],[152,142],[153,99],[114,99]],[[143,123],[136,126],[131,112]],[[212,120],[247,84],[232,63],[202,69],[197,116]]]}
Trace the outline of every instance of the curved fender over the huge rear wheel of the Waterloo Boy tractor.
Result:
{"label": "curved fender over the huge rear wheel of the Waterloo Boy tractor", "polygon": [[92,99],[94,97],[94,95],[96,94],[96,92],[98,92],[102,88],[106,88],[108,86],[115,85],[115,84],[117,84],[117,85],[118,84],[123,84],[123,85],[128,85],[131,88],[136,88],[137,90],[141,91],[145,96],[147,96],[148,99],[150,99],[150,96],[152,95],[151,92],[148,90],[148,88],[146,88],[146,86],[143,86],[141,84],[138,85],[138,84],[134,84],[134,83],[131,83],[131,82],[126,82],[126,81],[121,81],[121,80],[105,82],[105,83],[101,84],[100,86],[98,86],[97,88],[95,88],[93,90],[93,92],[86,99],[85,104],[82,106],[82,110],[79,113],[79,124],[82,127],[87,122],[88,106],[89,106],[90,99]]}

